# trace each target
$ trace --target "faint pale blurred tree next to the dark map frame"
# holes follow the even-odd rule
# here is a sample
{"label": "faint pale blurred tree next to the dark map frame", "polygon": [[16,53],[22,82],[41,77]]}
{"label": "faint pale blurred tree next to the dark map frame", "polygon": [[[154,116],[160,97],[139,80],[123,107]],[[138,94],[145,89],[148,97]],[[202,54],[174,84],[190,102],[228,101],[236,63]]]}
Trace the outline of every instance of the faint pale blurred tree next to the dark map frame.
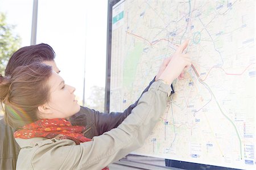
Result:
{"label": "faint pale blurred tree next to the dark map frame", "polygon": [[104,112],[105,88],[93,86],[90,89],[90,97],[86,101],[85,107],[89,107],[90,109],[94,109],[96,111]]}

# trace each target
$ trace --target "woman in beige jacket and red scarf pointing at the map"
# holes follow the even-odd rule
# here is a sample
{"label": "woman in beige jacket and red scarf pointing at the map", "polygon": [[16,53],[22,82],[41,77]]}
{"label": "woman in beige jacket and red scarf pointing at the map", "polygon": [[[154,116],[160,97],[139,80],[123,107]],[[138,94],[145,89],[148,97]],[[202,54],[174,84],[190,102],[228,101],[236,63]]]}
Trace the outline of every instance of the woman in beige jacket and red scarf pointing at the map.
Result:
{"label": "woman in beige jacket and red scarf pointing at the map", "polygon": [[67,121],[80,109],[75,88],[51,66],[32,63],[16,68],[12,77],[0,76],[5,121],[16,129],[21,148],[16,168],[102,169],[142,146],[166,108],[172,81],[191,65],[188,55],[182,54],[187,43],[177,49],[122,124],[93,139],[82,135],[84,127]]}

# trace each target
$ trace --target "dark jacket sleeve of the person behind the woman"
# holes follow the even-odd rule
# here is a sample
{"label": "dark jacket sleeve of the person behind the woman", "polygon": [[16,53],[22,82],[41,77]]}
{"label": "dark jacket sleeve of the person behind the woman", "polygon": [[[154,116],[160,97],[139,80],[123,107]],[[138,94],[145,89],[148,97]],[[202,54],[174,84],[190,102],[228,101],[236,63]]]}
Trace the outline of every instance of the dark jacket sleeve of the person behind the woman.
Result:
{"label": "dark jacket sleeve of the person behind the woman", "polygon": [[[155,78],[150,82],[150,84],[144,89],[142,95],[148,91],[151,84],[155,82]],[[174,89],[171,85],[172,92],[174,93]],[[141,99],[142,95],[139,97]],[[133,108],[135,108],[138,104],[138,101],[135,101],[134,104],[131,104],[125,111],[122,112],[111,112],[111,113],[101,113],[98,111],[94,111],[93,109],[89,109],[86,107],[81,107],[79,113],[72,116],[71,123],[72,125],[80,125],[85,126],[85,137],[93,138],[94,136],[101,135],[106,131],[109,131],[113,128],[117,128],[118,125],[122,123],[123,120],[131,113]],[[85,114],[85,115],[84,115]]]}

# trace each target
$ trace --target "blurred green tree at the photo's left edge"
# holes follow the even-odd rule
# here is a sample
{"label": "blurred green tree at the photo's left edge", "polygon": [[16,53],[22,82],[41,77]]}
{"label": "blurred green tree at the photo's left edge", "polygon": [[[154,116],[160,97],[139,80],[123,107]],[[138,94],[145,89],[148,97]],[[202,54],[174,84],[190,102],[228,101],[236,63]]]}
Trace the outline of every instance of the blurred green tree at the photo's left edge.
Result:
{"label": "blurred green tree at the photo's left edge", "polygon": [[6,15],[0,12],[0,74],[5,73],[5,67],[11,55],[20,48],[21,39],[13,30],[15,25],[6,23]]}

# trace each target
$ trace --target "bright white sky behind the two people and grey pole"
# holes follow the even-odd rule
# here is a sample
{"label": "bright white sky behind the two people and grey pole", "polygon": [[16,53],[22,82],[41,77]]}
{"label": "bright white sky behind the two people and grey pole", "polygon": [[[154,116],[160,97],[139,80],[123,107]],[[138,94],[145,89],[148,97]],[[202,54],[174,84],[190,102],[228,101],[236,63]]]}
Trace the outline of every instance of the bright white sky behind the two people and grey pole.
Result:
{"label": "bright white sky behind the two people and grey pole", "polygon": [[[15,24],[22,46],[30,45],[32,0],[0,0],[7,23]],[[84,68],[85,99],[90,87],[105,87],[108,1],[39,0],[36,44],[46,43],[56,53],[65,82],[76,87],[82,100]],[[85,66],[85,67],[84,67]]]}

